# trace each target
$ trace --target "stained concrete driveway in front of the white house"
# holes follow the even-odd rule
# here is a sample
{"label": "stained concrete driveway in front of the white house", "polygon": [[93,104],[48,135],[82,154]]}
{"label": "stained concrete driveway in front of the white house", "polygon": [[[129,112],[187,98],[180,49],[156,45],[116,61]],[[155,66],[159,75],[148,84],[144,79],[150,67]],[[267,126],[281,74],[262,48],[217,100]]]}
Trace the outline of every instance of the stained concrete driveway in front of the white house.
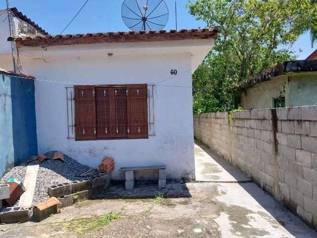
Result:
{"label": "stained concrete driveway in front of the white house", "polygon": [[[195,148],[200,156],[201,150],[213,155],[199,145]],[[209,163],[207,157],[204,160]],[[236,180],[245,180],[234,168],[226,164],[224,169],[218,161],[217,170],[227,170]],[[206,166],[198,169],[205,171],[198,176],[212,179]],[[117,184],[101,199],[67,207],[41,223],[2,225],[0,237],[317,238],[316,232],[255,183],[239,183],[231,177],[226,181],[224,171],[216,174],[216,182],[168,183],[161,190],[157,184],[138,184],[134,190],[125,191]],[[117,219],[107,225],[96,222],[109,212],[118,214]]]}

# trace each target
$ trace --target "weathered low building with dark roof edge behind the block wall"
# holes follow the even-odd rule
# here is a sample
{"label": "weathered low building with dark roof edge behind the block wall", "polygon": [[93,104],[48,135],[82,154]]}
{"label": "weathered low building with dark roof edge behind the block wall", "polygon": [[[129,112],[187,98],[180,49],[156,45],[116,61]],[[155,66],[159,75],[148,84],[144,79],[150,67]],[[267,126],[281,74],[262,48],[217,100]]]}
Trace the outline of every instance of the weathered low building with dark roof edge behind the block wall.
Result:
{"label": "weathered low building with dark roof edge behind the block wall", "polygon": [[244,110],[317,105],[317,60],[285,61],[251,76],[240,104]]}

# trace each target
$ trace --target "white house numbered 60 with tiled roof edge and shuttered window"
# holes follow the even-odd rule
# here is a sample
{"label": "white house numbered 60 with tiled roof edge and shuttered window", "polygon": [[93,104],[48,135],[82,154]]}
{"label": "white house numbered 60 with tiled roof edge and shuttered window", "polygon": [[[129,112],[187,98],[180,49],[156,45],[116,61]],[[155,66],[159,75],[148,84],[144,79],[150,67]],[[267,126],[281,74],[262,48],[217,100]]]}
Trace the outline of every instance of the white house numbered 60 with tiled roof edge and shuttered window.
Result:
{"label": "white house numbered 60 with tiled roof edge and shuttered window", "polygon": [[39,153],[94,168],[110,156],[113,179],[120,167],[162,164],[167,179],[194,179],[191,75],[218,30],[10,37],[37,79]]}

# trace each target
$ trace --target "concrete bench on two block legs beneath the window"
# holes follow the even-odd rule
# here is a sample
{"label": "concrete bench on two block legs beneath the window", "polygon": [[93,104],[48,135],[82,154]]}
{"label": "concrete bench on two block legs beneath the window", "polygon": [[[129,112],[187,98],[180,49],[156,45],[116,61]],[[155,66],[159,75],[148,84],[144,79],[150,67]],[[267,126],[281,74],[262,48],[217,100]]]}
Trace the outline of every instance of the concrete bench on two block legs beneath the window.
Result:
{"label": "concrete bench on two block legs beneath the window", "polygon": [[134,171],[138,170],[159,170],[159,188],[166,187],[166,166],[140,166],[140,167],[125,167],[119,171],[125,172],[125,189],[132,190],[134,187]]}

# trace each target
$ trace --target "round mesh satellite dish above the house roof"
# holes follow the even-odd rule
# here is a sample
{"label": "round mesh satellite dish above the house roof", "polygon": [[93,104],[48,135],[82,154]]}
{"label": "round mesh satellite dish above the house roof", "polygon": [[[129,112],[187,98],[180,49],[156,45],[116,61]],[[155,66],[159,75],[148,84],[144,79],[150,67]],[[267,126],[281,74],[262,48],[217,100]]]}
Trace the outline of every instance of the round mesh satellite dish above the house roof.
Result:
{"label": "round mesh satellite dish above the house roof", "polygon": [[168,8],[164,0],[124,0],[121,15],[132,31],[159,31],[168,21]]}

